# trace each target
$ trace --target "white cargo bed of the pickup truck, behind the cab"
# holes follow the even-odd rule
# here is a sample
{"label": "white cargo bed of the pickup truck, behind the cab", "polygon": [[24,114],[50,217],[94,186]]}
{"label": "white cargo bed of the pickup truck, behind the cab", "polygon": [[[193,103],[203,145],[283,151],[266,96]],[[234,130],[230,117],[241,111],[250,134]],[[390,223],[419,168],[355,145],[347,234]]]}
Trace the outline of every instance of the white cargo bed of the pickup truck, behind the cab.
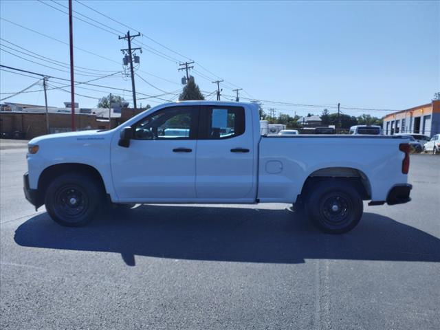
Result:
{"label": "white cargo bed of the pickup truck, behind the cab", "polygon": [[384,135],[263,136],[259,144],[258,198],[292,202],[307,177],[333,169],[342,175],[364,177],[372,201],[384,201],[393,183],[406,182],[406,175],[396,168],[401,168],[404,159],[399,144],[407,141]]}

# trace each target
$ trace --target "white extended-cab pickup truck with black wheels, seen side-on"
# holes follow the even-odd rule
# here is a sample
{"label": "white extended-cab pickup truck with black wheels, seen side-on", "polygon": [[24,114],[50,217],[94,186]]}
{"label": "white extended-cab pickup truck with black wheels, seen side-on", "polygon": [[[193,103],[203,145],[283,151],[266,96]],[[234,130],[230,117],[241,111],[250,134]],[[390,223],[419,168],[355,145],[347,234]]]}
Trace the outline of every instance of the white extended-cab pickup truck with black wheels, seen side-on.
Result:
{"label": "white extended-cab pickup truck with black wheels, seen side-on", "polygon": [[408,139],[261,136],[255,104],[177,102],[109,131],[29,142],[25,197],[61,225],[129,203],[293,203],[325,232],[348,232],[369,205],[406,203]]}

